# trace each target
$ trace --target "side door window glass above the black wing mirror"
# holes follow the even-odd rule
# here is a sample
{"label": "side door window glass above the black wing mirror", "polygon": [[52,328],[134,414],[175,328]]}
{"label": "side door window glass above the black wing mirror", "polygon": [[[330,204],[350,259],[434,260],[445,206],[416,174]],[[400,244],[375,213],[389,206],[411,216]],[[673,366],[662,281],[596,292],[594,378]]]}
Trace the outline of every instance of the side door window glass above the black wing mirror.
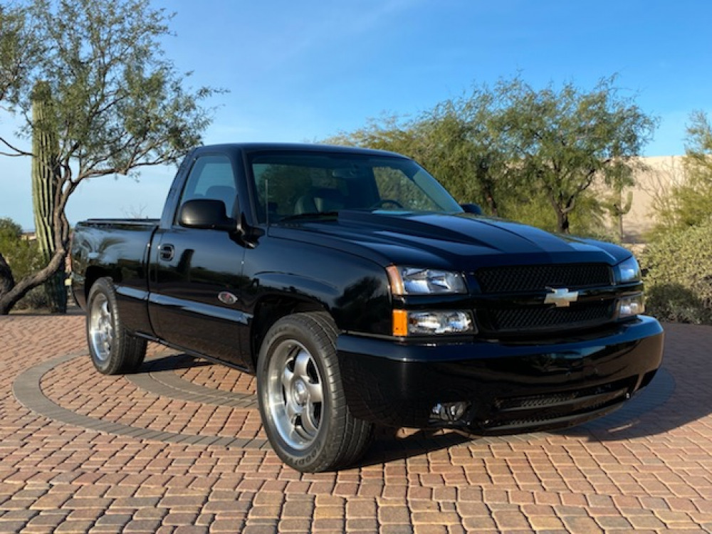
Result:
{"label": "side door window glass above the black wing mirror", "polygon": [[[226,156],[210,155],[196,159],[185,182],[179,209],[189,200],[213,199],[225,204],[228,216],[234,216],[237,189],[230,159]],[[176,214],[176,219],[178,215]],[[176,221],[174,221],[176,222]]]}

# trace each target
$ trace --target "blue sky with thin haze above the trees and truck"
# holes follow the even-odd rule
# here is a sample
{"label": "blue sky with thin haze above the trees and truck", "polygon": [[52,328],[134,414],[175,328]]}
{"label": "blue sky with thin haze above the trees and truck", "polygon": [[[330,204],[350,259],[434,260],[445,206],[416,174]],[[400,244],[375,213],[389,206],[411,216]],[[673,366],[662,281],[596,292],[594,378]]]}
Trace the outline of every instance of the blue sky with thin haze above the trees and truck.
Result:
{"label": "blue sky with thin haze above the trees and truck", "polygon": [[[154,0],[174,11],[164,49],[191,85],[213,85],[204,140],[315,141],[384,114],[417,115],[520,73],[582,89],[617,73],[659,117],[645,155],[684,153],[692,110],[712,112],[705,0]],[[13,130],[0,115],[0,132]],[[68,216],[159,216],[172,168],[86,182]],[[0,157],[0,216],[33,227],[29,162]]]}

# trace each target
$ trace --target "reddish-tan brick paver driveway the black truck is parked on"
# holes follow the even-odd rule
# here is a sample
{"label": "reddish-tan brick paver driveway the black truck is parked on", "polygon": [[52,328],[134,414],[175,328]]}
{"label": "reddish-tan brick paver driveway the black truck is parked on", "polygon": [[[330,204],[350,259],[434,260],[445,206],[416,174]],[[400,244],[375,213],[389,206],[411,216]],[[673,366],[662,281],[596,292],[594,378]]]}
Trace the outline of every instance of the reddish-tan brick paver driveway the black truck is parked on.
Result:
{"label": "reddish-tan brick paver driveway the black truck is parked on", "polygon": [[0,318],[0,532],[712,532],[712,328],[666,336],[651,385],[597,422],[384,431],[360,466],[303,475],[251,377],[160,347],[104,377],[82,315]]}

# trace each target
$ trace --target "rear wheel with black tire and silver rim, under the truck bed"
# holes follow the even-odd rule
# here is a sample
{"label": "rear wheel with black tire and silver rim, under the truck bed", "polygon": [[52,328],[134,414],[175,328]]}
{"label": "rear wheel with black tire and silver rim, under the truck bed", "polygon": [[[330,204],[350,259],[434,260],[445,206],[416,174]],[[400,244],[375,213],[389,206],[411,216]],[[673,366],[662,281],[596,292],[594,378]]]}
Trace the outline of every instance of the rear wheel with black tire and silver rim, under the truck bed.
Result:
{"label": "rear wheel with black tire and silver rim, under the truck bed", "polygon": [[86,330],[91,360],[98,372],[136,372],[146,356],[146,340],[123,326],[111,278],[99,278],[87,298]]}

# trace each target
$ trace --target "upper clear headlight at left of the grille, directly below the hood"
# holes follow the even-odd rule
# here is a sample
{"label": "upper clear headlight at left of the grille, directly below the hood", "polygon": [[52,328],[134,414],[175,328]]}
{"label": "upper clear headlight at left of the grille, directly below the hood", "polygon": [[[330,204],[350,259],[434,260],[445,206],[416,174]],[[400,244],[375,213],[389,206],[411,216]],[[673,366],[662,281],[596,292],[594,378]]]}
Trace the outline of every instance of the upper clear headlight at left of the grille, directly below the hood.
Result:
{"label": "upper clear headlight at left of the grille, directly below the hood", "polygon": [[461,273],[394,265],[387,267],[386,270],[393,295],[467,293],[467,286]]}

